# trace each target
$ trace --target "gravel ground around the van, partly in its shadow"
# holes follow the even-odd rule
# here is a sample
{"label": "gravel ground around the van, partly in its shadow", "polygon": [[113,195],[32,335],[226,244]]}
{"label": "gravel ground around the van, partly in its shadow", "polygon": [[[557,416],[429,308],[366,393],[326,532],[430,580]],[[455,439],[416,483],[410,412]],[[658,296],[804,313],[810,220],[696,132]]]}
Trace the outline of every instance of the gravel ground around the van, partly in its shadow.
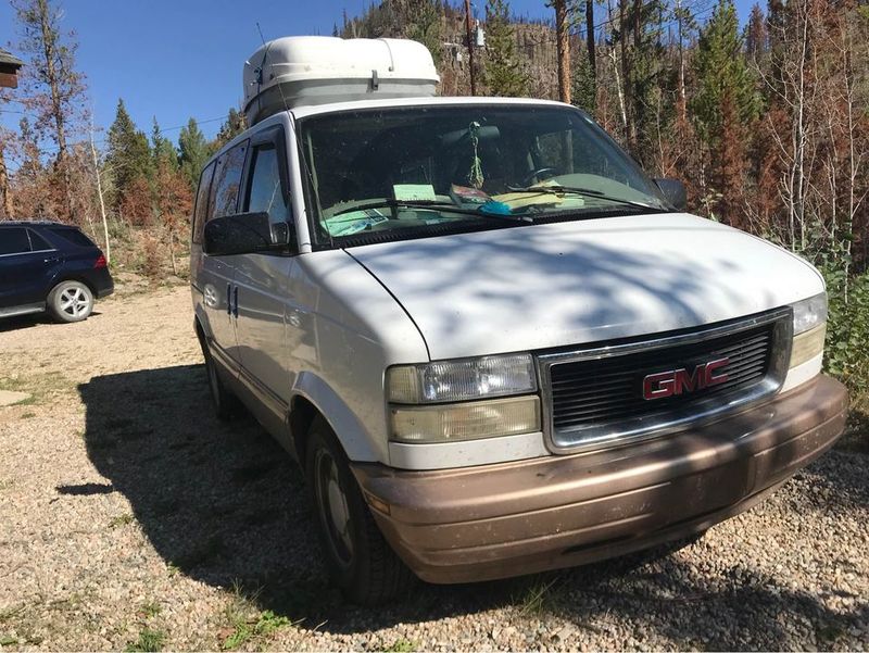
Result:
{"label": "gravel ground around the van, partly in its shadow", "polygon": [[0,324],[3,650],[869,648],[865,422],[681,550],[344,604],[302,479],[211,413],[186,288]]}

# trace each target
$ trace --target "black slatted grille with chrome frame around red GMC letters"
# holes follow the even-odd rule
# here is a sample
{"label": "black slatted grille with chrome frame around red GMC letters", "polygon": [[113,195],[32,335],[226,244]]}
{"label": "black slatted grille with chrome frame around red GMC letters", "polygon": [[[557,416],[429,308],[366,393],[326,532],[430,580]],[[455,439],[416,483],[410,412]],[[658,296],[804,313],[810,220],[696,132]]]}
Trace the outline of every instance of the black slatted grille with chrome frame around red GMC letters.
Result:
{"label": "black slatted grille with chrome frame around red GMC letters", "polygon": [[[730,410],[780,386],[790,342],[790,312],[654,341],[616,343],[540,357],[549,393],[549,430],[556,448],[677,427],[698,415]],[[786,331],[786,332],[785,332]],[[647,375],[728,359],[727,380],[654,400],[643,398]]]}

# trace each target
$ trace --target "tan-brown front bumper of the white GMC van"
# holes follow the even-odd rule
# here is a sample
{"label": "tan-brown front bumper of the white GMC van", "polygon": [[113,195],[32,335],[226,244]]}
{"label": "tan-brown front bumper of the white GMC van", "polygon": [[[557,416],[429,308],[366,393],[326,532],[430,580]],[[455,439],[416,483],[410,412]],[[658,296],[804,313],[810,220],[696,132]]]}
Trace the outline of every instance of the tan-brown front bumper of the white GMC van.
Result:
{"label": "tan-brown front bumper of the white GMC van", "polygon": [[[743,512],[827,451],[847,393],[820,376],[719,422],[620,449],[437,472],[354,464],[385,537],[429,582],[622,555]],[[493,445],[496,442],[493,441]]]}

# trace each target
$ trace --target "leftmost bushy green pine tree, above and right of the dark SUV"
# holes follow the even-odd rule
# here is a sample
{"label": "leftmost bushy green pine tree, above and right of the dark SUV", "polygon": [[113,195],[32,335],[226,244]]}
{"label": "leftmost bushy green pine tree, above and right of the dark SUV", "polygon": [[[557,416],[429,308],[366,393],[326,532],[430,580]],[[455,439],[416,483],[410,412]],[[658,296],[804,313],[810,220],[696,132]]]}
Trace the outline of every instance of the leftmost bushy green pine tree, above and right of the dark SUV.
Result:
{"label": "leftmost bushy green pine tree, above and right of the dark SUV", "polygon": [[116,209],[124,203],[125,196],[134,188],[137,192],[140,191],[140,180],[147,183],[153,177],[148,137],[136,128],[124,100],[121,99],[117,101],[115,120],[109,127],[109,151],[105,162],[114,178],[112,205]]}

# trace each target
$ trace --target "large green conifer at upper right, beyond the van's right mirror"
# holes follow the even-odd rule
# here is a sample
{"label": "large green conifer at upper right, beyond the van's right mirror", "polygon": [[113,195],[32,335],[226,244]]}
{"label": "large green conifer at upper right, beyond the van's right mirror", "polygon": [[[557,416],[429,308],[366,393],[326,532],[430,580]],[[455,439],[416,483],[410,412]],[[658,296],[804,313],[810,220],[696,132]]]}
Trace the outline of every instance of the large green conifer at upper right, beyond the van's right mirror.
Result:
{"label": "large green conifer at upper right, beyond the van's right mirror", "polygon": [[732,0],[719,0],[718,7],[701,30],[694,58],[696,93],[691,101],[697,134],[707,142],[721,138],[726,101],[735,105],[744,125],[758,112],[755,80],[742,51],[739,18]]}

